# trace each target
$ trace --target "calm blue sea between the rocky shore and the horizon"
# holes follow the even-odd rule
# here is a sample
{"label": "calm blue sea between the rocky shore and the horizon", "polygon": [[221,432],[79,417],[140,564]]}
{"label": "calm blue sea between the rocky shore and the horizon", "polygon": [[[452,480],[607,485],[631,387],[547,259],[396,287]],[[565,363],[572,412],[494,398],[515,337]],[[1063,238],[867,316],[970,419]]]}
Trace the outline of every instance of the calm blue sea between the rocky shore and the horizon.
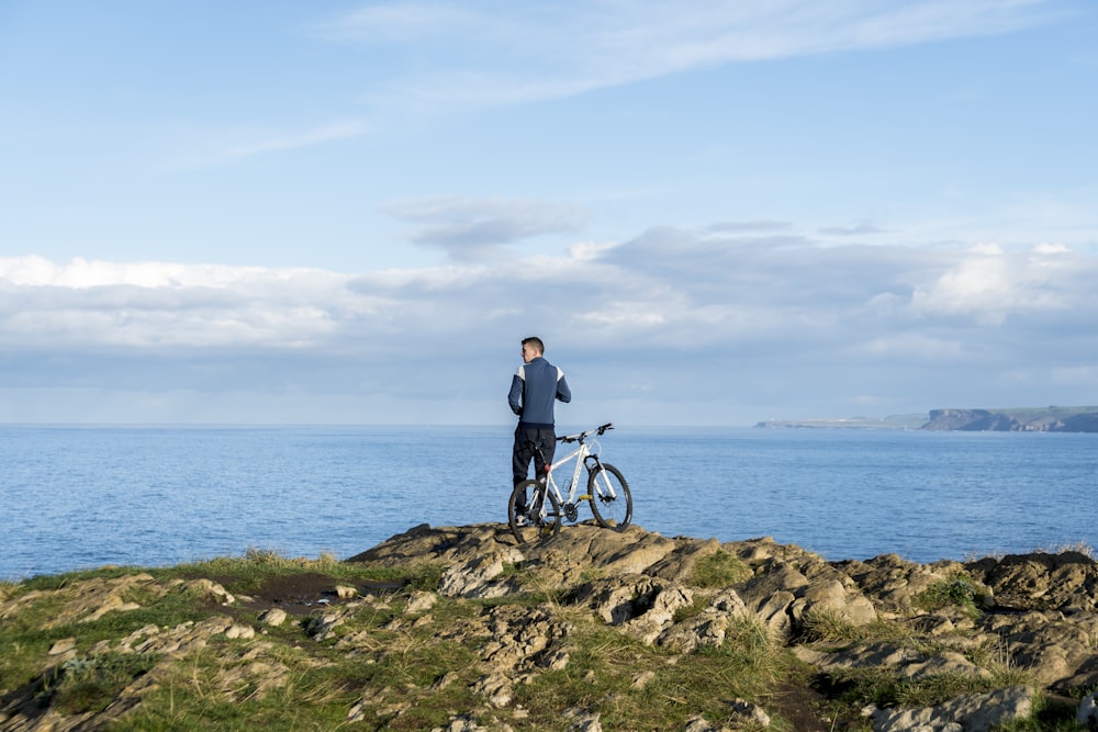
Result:
{"label": "calm blue sea between the rocky shore and the horizon", "polygon": [[[506,520],[508,427],[0,427],[0,578]],[[618,428],[634,522],[829,560],[1098,547],[1098,435]],[[559,455],[562,453],[558,453]],[[590,517],[584,507],[581,517]]]}

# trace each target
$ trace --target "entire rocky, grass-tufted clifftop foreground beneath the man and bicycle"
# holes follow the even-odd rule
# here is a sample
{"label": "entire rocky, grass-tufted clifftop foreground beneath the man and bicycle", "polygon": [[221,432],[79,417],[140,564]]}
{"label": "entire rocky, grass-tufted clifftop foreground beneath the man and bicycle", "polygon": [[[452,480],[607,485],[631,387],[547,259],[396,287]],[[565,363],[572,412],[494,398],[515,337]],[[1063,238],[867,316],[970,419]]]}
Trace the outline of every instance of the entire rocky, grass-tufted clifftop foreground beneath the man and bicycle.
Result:
{"label": "entire rocky, grass-tufted clifftop foreground beneath the man and bicycle", "polygon": [[[1098,685],[1086,552],[829,562],[768,538],[579,525],[519,544],[484,523],[416,527],[345,564],[429,581],[383,589],[313,572],[279,595],[273,579],[245,594],[120,571],[5,587],[8,628],[48,612],[29,635],[41,652],[19,649],[35,673],[0,677],[0,729],[219,729],[183,714],[274,699],[269,729],[332,729],[313,709],[370,730],[1063,730]],[[147,621],[181,594],[189,620]],[[66,675],[135,657],[96,709],[61,708]],[[195,688],[201,711],[180,711]]]}

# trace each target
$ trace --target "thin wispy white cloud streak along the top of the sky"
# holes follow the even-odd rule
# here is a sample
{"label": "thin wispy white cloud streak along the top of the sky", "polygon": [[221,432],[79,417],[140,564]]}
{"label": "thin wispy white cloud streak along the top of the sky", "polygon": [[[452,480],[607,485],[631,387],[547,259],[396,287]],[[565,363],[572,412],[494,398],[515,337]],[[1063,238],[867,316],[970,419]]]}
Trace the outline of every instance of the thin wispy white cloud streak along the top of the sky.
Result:
{"label": "thin wispy white cloud streak along the top of the sky", "polygon": [[[490,105],[562,98],[724,63],[911,45],[1040,22],[1042,0],[605,0],[558,5],[373,4],[317,24],[339,43],[410,49],[418,102]],[[414,53],[411,50],[414,49]],[[430,69],[435,54],[437,67]],[[507,69],[501,72],[500,69]]]}

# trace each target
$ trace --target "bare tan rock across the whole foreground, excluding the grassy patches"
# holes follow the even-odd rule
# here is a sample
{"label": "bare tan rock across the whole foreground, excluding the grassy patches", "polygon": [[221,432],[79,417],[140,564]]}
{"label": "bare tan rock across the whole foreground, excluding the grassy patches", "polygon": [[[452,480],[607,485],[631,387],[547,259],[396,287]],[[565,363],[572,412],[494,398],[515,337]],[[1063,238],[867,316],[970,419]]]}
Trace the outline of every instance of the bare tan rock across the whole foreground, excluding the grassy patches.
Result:
{"label": "bare tan rock across the whole foreground, excluding the grassy patches", "polygon": [[[1071,707],[1072,718],[1076,709],[1085,716],[1093,707],[1089,694],[1098,687],[1098,566],[1086,553],[926,565],[892,554],[828,562],[768,538],[719,543],[639,527],[615,532],[580,525],[524,544],[505,526],[484,523],[416,527],[347,561],[384,567],[427,563],[441,574],[437,587],[414,590],[346,586],[324,573],[295,574],[268,581],[247,596],[234,596],[216,577],[177,581],[208,596],[219,611],[201,622],[144,627],[102,640],[99,650],[169,658],[215,637],[254,641],[256,647],[231,646],[253,663],[234,665],[238,677],[222,682],[226,688],[244,682],[249,689],[273,688],[285,684],[284,664],[280,668],[278,661],[265,657],[259,644],[274,628],[296,623],[310,643],[380,658],[385,650],[378,647],[377,633],[355,626],[363,607],[397,606],[399,613],[385,626],[395,632],[429,626],[439,604],[479,604],[462,623],[433,631],[440,643],[475,649],[474,661],[441,674],[428,689],[362,691],[346,710],[346,721],[369,722],[363,729],[389,729],[377,722],[379,709],[385,719],[399,719],[417,698],[422,703],[426,695],[452,685],[467,686],[475,706],[455,710],[449,725],[436,729],[524,729],[526,712],[516,708],[516,689],[539,674],[570,666],[580,617],[661,649],[668,663],[721,646],[736,623],[748,619],[765,628],[803,668],[796,685],[783,682],[765,698],[727,700],[730,711],[719,721],[702,713],[690,717],[680,729],[691,732],[768,727],[804,732],[993,730],[1032,719],[1039,706]],[[147,574],[88,582],[66,588],[66,598],[72,599],[59,606],[57,622],[132,612],[141,604],[125,598],[135,586],[146,597],[171,592]],[[531,587],[548,599],[508,603],[530,597]],[[400,604],[392,601],[394,594]],[[43,597],[0,596],[0,621]],[[54,643],[48,663],[87,657],[77,655],[78,641]],[[34,684],[0,689],[0,730],[98,729],[124,720],[146,702],[149,689],[163,685],[167,673],[154,666],[104,710],[75,717],[43,708],[42,689]],[[912,684],[950,679],[955,688],[981,690],[927,706],[865,703],[845,714],[829,703],[872,674]],[[650,676],[638,673],[635,684],[642,686]],[[565,712],[568,729],[603,729],[597,702]]]}

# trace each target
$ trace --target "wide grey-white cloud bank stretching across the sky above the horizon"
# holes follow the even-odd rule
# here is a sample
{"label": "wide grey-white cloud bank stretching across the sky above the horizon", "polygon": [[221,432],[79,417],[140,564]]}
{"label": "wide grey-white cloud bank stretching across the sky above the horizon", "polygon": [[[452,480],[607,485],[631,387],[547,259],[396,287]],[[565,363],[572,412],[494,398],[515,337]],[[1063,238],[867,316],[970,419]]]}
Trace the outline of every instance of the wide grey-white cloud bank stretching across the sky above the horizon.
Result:
{"label": "wide grey-white cloud bank stretching across the sky above the horizon", "polygon": [[824,246],[727,224],[369,273],[7,258],[0,419],[32,420],[31,393],[98,390],[139,394],[152,421],[232,393],[240,423],[305,403],[321,421],[506,423],[534,333],[582,392],[576,419],[1086,403],[1096,283],[1094,252],[1053,244]]}

